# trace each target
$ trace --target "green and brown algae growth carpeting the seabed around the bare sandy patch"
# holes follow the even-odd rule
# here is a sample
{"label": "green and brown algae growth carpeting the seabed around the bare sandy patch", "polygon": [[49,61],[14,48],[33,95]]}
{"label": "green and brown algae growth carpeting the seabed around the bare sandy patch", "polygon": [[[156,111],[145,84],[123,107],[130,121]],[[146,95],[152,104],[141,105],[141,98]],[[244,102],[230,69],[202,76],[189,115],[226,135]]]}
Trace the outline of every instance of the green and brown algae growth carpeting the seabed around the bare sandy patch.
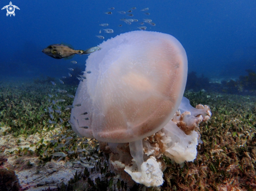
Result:
{"label": "green and brown algae growth carpeting the seabed around the bare sandy patch", "polygon": [[[60,88],[61,87],[61,88]],[[72,86],[53,87],[49,84],[34,83],[2,83],[0,87],[0,125],[8,127],[3,135],[12,134],[17,137],[17,144],[20,138],[29,135],[40,135],[41,139],[30,145],[36,147],[35,151],[30,148],[18,148],[8,154],[15,154],[17,157],[27,154],[37,154],[42,164],[51,161],[51,154],[64,152],[67,157],[62,158],[68,165],[77,158],[97,154],[98,162],[95,169],[101,174],[108,175],[107,179],[97,179],[94,183],[89,178],[91,171],[85,168],[84,173],[76,174],[69,185],[62,185],[60,190],[99,190],[104,187],[111,190],[113,185],[116,190],[126,190],[127,185],[121,180],[113,182],[114,174],[110,173],[108,165],[102,160],[102,153],[97,151],[98,143],[94,139],[78,137],[68,124],[70,110],[63,110],[61,118],[63,123],[49,124],[51,119],[47,109],[51,102],[48,101],[48,93],[55,94],[55,90],[65,89],[74,94]],[[62,94],[58,93],[63,97]],[[183,168],[172,163],[164,157],[166,170],[164,171],[164,184],[161,190],[220,190],[227,188],[253,190],[256,187],[256,98],[225,93],[209,92],[185,92],[192,106],[206,104],[210,106],[213,113],[208,123],[200,125],[201,139],[203,144],[197,147],[197,158],[194,162],[185,162]],[[59,98],[58,98],[59,99]],[[71,105],[72,99],[65,97],[66,102],[58,103],[64,108]],[[53,109],[55,105],[52,106]],[[43,115],[44,114],[44,115]],[[60,116],[53,114],[54,119]],[[49,135],[51,138],[46,138]],[[72,137],[68,140],[63,136]],[[53,142],[54,141],[54,142]],[[82,149],[82,152],[79,152]],[[69,151],[74,151],[69,154]],[[0,148],[4,152],[4,147]],[[59,157],[53,159],[58,160]],[[27,164],[29,166],[29,164]],[[92,169],[93,171],[93,169]],[[107,182],[106,182],[107,180]],[[82,186],[84,185],[84,187]],[[67,187],[68,186],[68,187]],[[142,186],[135,185],[131,190],[140,190]],[[144,189],[144,188],[143,188]],[[148,190],[154,188],[147,188]]]}

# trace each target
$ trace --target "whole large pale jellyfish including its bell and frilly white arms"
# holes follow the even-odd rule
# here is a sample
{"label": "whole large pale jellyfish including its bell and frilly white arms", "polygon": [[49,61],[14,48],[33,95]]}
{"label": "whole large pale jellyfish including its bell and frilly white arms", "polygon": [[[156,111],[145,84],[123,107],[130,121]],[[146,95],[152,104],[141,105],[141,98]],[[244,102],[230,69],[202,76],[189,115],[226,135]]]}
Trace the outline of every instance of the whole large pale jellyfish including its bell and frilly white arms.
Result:
{"label": "whole large pale jellyfish including its bell and frilly white arms", "polygon": [[[172,35],[149,31],[120,34],[99,47],[88,56],[86,79],[76,90],[72,128],[80,136],[107,142],[119,154],[110,159],[114,168],[125,170],[137,183],[159,186],[161,154],[177,163],[194,160],[201,113],[210,115],[205,106],[188,111],[189,101],[183,98],[186,52]],[[150,136],[158,136],[162,144],[152,144]]]}

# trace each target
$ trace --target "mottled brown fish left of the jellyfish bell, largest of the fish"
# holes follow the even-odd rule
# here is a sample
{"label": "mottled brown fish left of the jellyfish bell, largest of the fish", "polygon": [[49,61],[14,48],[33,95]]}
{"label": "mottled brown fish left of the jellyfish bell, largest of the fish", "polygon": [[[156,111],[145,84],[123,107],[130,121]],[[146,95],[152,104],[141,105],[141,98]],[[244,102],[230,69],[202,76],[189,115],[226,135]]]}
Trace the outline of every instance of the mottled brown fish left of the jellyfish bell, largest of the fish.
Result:
{"label": "mottled brown fish left of the jellyfish bell, largest of the fish", "polygon": [[64,44],[52,44],[43,49],[42,52],[53,58],[61,59],[72,56],[74,54],[82,54],[84,51],[74,50],[71,47],[66,46]]}

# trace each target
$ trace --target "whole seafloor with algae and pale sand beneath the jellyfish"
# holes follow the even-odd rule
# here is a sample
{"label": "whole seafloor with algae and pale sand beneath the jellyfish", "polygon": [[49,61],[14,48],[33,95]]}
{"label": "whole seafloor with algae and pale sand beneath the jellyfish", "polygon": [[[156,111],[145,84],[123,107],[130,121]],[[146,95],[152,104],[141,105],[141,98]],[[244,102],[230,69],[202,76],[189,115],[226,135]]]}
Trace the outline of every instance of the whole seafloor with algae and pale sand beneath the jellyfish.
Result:
{"label": "whole seafloor with algae and pale sand beneath the jellyfish", "polygon": [[[53,86],[47,79],[0,82],[0,190],[256,190],[256,97],[185,92],[192,106],[209,105],[212,111],[200,125],[203,144],[183,168],[165,158],[164,184],[146,188],[120,180],[98,142],[74,134],[71,110],[65,110],[73,99],[58,89],[74,95],[76,86]],[[44,111],[51,105],[58,110],[48,94],[65,99],[53,118]],[[69,154],[52,157],[53,152]]]}

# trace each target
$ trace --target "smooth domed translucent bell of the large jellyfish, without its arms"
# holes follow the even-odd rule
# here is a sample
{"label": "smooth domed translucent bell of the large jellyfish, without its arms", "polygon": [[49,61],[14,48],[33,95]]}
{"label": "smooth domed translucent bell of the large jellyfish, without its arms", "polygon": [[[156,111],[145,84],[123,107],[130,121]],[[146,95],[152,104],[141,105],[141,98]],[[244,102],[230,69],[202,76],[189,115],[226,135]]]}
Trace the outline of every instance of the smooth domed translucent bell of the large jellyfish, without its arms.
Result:
{"label": "smooth domed translucent bell of the large jellyfish, without its arms", "polygon": [[[187,57],[169,34],[133,31],[99,45],[77,88],[73,130],[106,142],[131,142],[166,125],[181,103]],[[87,112],[87,114],[84,114]]]}

